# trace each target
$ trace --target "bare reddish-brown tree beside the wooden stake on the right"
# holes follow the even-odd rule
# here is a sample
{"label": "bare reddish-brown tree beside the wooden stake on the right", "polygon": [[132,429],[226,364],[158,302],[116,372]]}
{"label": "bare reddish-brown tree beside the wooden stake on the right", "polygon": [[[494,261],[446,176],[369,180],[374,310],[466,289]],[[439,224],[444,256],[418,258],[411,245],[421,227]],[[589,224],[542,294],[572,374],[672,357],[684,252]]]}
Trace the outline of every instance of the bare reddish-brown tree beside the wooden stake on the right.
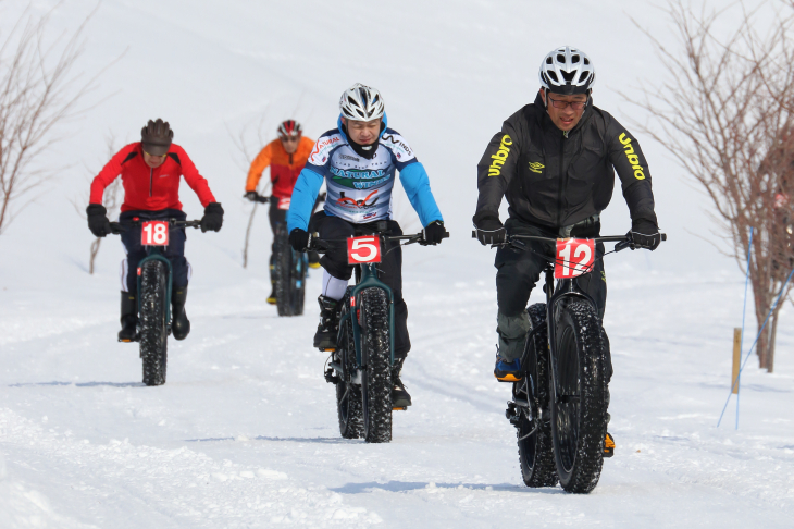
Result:
{"label": "bare reddish-brown tree beside the wooden stake on the right", "polygon": [[[778,313],[772,305],[794,266],[791,187],[794,170],[794,46],[791,3],[778,4],[764,25],[759,12],[734,3],[696,10],[681,0],[668,4],[680,50],[652,39],[667,77],[648,82],[644,99],[632,101],[652,116],[635,123],[661,143],[705,189],[715,206],[718,237],[744,272],[753,229],[749,280],[760,329],[759,366],[774,366]],[[718,29],[741,11],[731,33]],[[642,27],[641,27],[642,29]]]}

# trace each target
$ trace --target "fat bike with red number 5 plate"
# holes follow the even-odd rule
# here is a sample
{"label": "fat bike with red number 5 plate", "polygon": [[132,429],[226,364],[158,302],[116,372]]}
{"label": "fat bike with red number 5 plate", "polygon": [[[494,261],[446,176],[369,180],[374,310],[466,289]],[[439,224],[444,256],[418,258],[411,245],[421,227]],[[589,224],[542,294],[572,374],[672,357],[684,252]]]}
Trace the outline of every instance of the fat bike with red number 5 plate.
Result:
{"label": "fat bike with red number 5 plate", "polygon": [[[348,262],[356,264],[356,284],[342,299],[336,348],[325,381],[336,386],[339,433],[368,443],[392,441],[392,366],[394,364],[394,296],[377,276],[377,263],[394,244],[423,243],[423,234],[387,235],[387,222],[374,229],[358,226],[349,239],[312,238],[310,248],[325,253],[334,244],[347,244]],[[445,234],[445,238],[449,234]],[[327,350],[327,349],[326,349]]]}

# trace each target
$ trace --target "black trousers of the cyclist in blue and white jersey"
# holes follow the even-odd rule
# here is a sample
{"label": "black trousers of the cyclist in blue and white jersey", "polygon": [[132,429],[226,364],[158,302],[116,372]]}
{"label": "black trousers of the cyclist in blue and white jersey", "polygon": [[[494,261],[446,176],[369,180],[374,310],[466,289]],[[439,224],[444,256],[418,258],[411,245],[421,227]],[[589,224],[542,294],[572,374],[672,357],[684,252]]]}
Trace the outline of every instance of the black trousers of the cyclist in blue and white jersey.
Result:
{"label": "black trousers of the cyclist in blue and white jersey", "polygon": [[[323,239],[340,239],[333,244],[320,259],[320,264],[334,278],[348,281],[352,276],[353,267],[347,263],[348,237],[358,234],[374,233],[374,223],[353,224],[338,217],[318,211],[312,216],[310,223],[312,231],[320,233]],[[396,221],[388,221],[388,235],[402,235],[402,230]],[[411,341],[408,336],[408,306],[402,299],[402,248],[398,242],[392,242],[382,248],[383,261],[377,266],[377,278],[392,288],[394,295],[394,356],[405,358],[411,350]]]}

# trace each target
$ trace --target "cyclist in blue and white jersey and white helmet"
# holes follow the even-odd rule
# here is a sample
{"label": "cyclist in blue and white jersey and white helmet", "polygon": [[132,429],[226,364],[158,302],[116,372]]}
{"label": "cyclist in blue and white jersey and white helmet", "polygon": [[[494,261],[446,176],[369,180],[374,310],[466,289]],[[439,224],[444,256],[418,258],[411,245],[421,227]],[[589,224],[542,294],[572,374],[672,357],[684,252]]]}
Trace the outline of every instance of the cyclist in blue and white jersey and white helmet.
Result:
{"label": "cyclist in blue and white jersey and white helmet", "polygon": [[[444,219],[436,206],[424,167],[413,150],[396,131],[388,128],[381,94],[356,83],[339,100],[337,127],[318,139],[306,167],[293,189],[287,212],[289,243],[303,251],[309,243],[309,223],[324,239],[344,239],[355,234],[355,226],[368,227],[379,221],[388,223],[389,235],[401,235],[399,224],[392,219],[392,188],[399,172],[400,182],[413,209],[424,226],[424,239],[438,244],[444,236]],[[325,180],[327,198],[323,211],[311,216],[320,186]],[[311,218],[310,218],[311,217]],[[400,381],[400,370],[411,348],[408,336],[408,308],[402,299],[402,254],[397,243],[383,249],[380,278],[394,295],[395,364],[392,380],[394,407],[411,404],[411,396]],[[314,334],[314,347],[334,348],[338,317],[347,283],[352,275],[344,246],[327,251],[323,267],[323,290],[320,303],[320,324]]]}

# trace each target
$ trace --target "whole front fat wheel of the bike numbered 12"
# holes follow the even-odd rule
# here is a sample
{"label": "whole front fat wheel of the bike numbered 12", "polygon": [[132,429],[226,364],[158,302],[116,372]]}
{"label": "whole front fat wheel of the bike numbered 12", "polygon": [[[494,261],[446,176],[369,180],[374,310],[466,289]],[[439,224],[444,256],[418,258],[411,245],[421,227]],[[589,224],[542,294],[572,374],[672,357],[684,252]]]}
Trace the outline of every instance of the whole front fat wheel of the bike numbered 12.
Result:
{"label": "whole front fat wheel of the bike numbered 12", "polygon": [[560,306],[555,320],[554,376],[559,395],[551,405],[551,439],[557,475],[566,491],[588,493],[601,473],[607,431],[601,327],[584,300]]}

